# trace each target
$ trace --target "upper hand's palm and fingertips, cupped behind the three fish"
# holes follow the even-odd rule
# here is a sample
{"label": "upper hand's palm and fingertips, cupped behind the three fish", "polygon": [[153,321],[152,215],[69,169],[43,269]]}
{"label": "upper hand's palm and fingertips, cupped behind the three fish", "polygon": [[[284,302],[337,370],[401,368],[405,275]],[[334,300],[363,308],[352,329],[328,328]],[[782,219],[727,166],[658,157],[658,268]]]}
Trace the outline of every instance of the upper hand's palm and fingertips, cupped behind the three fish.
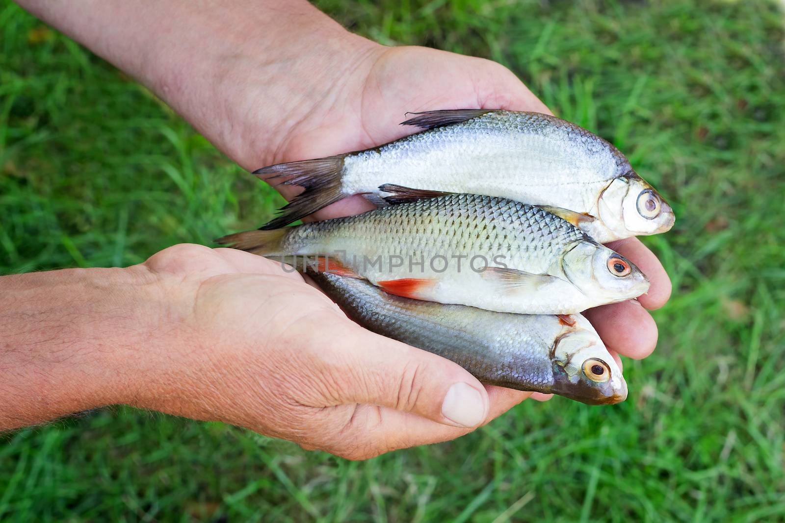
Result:
{"label": "upper hand's palm and fingertips, cupped behind the three fish", "polygon": [[[362,53],[363,60],[358,60],[350,73],[341,71],[336,92],[324,96],[323,104],[312,107],[307,118],[287,129],[274,154],[262,154],[263,148],[243,154],[248,169],[357,151],[397,140],[418,130],[399,125],[406,118],[406,111],[480,107],[550,114],[515,74],[490,60],[424,47],[378,45],[370,51],[363,49]],[[285,185],[277,188],[286,198],[300,191]],[[352,196],[316,212],[310,219],[348,216],[369,209],[373,209],[371,203]],[[670,279],[656,256],[637,238],[609,246],[636,263],[648,276],[651,287],[638,300],[586,311],[586,318],[609,350],[630,358],[644,358],[657,343],[657,326],[648,310],[666,303]]]}

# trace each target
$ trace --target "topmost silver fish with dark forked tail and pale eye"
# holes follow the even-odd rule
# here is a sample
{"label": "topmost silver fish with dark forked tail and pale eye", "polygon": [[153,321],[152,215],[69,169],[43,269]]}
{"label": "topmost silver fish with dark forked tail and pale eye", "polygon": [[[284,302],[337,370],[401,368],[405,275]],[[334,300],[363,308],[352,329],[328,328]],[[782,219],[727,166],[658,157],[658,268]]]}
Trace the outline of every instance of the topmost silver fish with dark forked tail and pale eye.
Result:
{"label": "topmost silver fish with dark forked tail and pale eye", "polygon": [[616,147],[578,125],[525,111],[458,109],[414,113],[422,132],[382,146],[254,171],[305,187],[263,229],[299,220],[350,194],[390,205],[383,186],[427,194],[484,194],[575,212],[600,243],[673,227],[673,209]]}

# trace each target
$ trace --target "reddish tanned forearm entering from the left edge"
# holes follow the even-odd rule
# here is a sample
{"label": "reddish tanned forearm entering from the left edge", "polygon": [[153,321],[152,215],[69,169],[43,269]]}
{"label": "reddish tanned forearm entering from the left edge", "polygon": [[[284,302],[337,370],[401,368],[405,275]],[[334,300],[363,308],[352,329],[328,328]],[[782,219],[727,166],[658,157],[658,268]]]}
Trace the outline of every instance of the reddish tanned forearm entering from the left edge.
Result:
{"label": "reddish tanned forearm entering from the left edge", "polygon": [[139,266],[0,277],[0,430],[128,401],[159,321],[142,314],[151,281]]}

